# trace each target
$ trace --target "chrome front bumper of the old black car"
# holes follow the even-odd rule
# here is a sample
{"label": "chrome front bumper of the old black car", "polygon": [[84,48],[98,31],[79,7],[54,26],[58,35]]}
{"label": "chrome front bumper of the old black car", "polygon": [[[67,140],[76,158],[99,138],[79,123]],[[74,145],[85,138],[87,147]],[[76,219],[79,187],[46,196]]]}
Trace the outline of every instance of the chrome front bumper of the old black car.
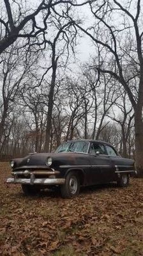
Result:
{"label": "chrome front bumper of the old black car", "polygon": [[6,183],[12,183],[12,184],[30,184],[30,185],[61,185],[64,184],[65,179],[35,179],[33,175],[31,175],[30,179],[20,179],[17,177],[14,178],[8,178],[6,180]]}

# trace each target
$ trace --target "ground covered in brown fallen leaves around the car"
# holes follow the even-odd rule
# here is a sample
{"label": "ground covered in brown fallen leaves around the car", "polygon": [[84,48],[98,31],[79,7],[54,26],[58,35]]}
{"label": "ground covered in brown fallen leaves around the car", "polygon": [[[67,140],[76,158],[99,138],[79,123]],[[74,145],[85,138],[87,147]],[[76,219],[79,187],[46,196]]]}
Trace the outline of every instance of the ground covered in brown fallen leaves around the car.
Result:
{"label": "ground covered in brown fallen leaves around the car", "polygon": [[143,255],[142,179],[65,200],[58,191],[24,196],[7,177],[8,163],[0,163],[0,255]]}

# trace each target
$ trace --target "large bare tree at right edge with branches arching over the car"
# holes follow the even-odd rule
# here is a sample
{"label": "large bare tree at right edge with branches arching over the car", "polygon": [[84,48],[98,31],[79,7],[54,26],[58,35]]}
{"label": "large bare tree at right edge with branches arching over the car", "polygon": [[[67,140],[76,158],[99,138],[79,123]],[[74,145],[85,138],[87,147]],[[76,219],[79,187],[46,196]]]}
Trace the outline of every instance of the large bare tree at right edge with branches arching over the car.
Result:
{"label": "large bare tree at right edge with branches arching over the car", "polygon": [[98,71],[114,77],[128,93],[135,115],[136,168],[139,176],[143,176],[143,6],[140,0],[123,4],[117,0],[94,0],[89,7],[94,25],[89,29],[76,26],[100,46]]}

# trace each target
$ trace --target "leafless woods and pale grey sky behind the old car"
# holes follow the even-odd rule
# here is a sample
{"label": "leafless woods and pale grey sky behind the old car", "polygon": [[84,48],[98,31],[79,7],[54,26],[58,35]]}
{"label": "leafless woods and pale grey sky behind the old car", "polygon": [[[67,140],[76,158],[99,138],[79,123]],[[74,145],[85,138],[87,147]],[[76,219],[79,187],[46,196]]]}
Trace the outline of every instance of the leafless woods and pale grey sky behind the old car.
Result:
{"label": "leafless woods and pale grey sky behind the old car", "polygon": [[[136,152],[141,170],[140,1],[1,0],[0,6],[1,158],[92,138],[124,157]],[[87,37],[91,54],[83,62],[79,47]]]}

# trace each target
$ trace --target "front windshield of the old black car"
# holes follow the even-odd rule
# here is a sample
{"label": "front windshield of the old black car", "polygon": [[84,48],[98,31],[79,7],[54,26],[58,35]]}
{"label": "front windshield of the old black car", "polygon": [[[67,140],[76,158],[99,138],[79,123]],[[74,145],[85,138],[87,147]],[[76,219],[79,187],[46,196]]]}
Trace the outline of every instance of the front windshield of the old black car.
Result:
{"label": "front windshield of the old black car", "polygon": [[87,141],[68,141],[61,144],[57,149],[56,153],[59,152],[82,152],[87,153],[89,142]]}

